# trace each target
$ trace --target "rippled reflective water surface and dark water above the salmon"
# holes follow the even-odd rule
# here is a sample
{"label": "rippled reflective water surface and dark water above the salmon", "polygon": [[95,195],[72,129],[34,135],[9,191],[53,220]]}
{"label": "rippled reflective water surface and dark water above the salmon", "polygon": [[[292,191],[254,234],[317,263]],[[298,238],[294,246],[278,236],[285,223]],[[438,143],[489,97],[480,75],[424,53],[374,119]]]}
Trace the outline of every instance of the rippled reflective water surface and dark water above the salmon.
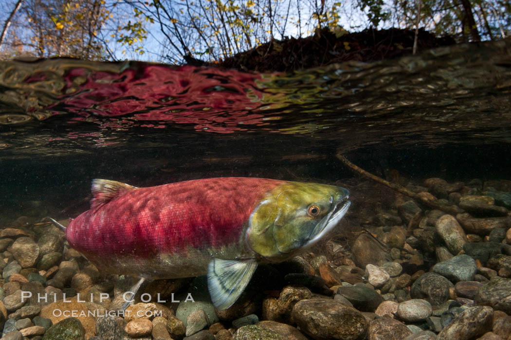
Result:
{"label": "rippled reflective water surface and dark water above the salmon", "polygon": [[337,151],[373,168],[500,174],[510,90],[509,40],[290,74],[3,62],[5,195],[83,197],[97,176],[137,185],[216,175],[331,181],[347,172]]}

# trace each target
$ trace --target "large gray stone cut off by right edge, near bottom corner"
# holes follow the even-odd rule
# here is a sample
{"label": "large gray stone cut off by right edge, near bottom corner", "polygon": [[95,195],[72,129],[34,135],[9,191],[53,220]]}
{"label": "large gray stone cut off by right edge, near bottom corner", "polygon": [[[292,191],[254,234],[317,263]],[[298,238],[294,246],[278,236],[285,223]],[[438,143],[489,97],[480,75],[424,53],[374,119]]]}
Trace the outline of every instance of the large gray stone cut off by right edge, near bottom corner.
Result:
{"label": "large gray stone cut off by right edge, near bottom corner", "polygon": [[479,288],[474,304],[491,306],[511,314],[511,279],[495,277]]}

